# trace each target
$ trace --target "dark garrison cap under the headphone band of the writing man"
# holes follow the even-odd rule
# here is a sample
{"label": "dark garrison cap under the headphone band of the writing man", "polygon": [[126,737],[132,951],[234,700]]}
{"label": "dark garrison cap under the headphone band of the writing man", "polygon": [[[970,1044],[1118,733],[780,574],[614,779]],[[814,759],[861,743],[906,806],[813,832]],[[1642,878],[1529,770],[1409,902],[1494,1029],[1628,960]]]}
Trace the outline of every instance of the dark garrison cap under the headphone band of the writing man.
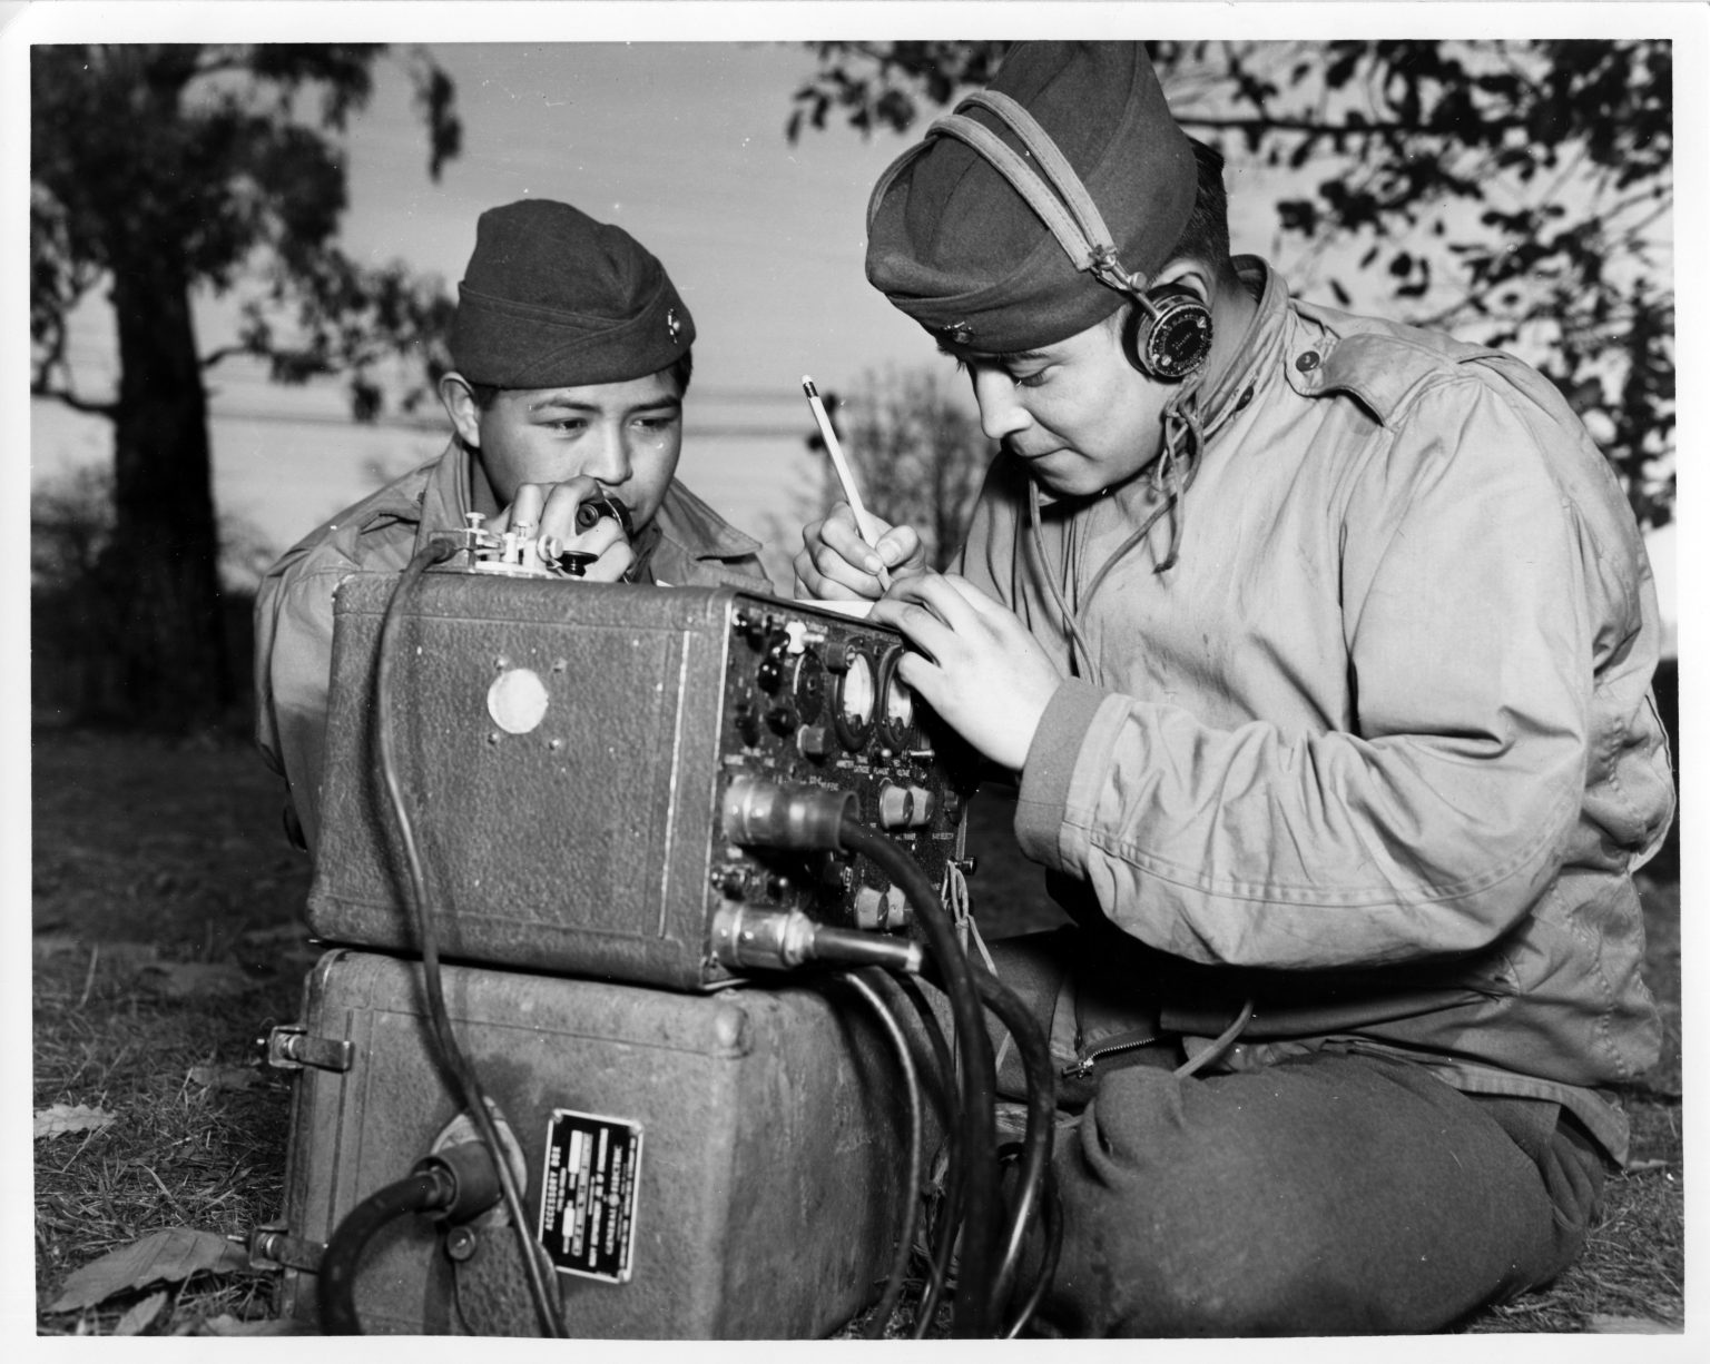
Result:
{"label": "dark garrison cap under the headphone band of the writing man", "polygon": [[[990,89],[1019,103],[1057,144],[1110,227],[1122,265],[1141,277],[1158,270],[1192,214],[1197,171],[1146,48],[1023,43],[1004,56]],[[968,104],[958,113],[1040,169],[988,109]],[[1123,299],[1076,268],[985,156],[932,128],[874,188],[867,279],[934,335],[985,352],[1052,345]]]}

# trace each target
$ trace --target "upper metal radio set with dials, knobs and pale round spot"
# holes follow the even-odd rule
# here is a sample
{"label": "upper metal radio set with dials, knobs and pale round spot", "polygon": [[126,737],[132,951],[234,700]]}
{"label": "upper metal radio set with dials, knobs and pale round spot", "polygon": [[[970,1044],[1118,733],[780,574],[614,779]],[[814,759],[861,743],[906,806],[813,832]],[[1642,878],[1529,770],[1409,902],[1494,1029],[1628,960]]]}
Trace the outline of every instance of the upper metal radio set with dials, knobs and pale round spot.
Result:
{"label": "upper metal radio set with dials, knobs and pale round spot", "polygon": [[[397,574],[337,591],[310,925],[417,950],[374,744]],[[939,884],[961,856],[973,754],[896,675],[899,634],[737,588],[431,571],[398,605],[388,701],[424,906],[446,957],[706,990],[732,906],[913,932],[865,858],[735,846],[732,783],[846,791]]]}

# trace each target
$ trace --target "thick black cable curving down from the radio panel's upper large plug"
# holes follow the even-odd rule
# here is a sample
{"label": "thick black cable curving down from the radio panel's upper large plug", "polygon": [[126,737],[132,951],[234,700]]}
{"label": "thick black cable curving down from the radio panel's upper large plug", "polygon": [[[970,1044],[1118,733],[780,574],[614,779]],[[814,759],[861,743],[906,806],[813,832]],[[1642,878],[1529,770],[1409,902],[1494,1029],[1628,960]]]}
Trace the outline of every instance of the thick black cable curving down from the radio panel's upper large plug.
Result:
{"label": "thick black cable curving down from the radio panel's upper large plug", "polygon": [[956,942],[949,914],[939,904],[939,891],[920,865],[881,832],[845,819],[838,831],[845,851],[874,861],[893,885],[899,885],[915,906],[917,920],[925,932],[927,949],[944,974],[951,1014],[956,1019],[956,1048],[963,1060],[961,1135],[958,1147],[963,1166],[961,1205],[961,1261],[959,1285],[976,1285],[973,1292],[958,1291],[952,1333],[961,1338],[990,1337],[994,1333],[992,1261],[997,1253],[997,1135],[995,1104],[997,1080],[994,1075],[992,1039],[985,1031],[985,1014],[973,983],[968,957]]}

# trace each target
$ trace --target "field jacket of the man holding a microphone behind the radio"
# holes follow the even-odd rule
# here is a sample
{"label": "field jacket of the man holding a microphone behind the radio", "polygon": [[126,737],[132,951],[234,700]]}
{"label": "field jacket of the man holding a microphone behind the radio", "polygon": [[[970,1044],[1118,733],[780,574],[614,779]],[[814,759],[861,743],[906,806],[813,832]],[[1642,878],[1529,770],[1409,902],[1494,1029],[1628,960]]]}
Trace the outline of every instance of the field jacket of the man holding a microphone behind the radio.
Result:
{"label": "field jacket of the man holding a microphone behind the radio", "polygon": [[[304,535],[255,597],[255,738],[286,778],[291,810],[313,850],[327,750],[332,598],[357,571],[402,573],[428,538],[463,526],[479,470],[453,443],[439,458],[386,484]],[[727,525],[677,480],[665,491],[657,542],[638,581],[674,586],[759,586],[770,591],[759,542]]]}

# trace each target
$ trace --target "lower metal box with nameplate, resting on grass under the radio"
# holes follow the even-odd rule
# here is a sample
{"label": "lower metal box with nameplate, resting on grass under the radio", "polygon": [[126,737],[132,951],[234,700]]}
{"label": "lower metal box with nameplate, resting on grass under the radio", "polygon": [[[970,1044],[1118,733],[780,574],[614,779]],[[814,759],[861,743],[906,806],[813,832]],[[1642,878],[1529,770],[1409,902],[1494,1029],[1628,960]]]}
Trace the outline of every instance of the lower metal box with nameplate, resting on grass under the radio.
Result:
{"label": "lower metal box with nameplate, resting on grass under the radio", "polygon": [[[457,1118],[421,990],[417,962],[349,949],[304,985],[284,1048],[306,1058],[286,1171],[299,1244],[325,1243]],[[527,1167],[571,1337],[821,1337],[877,1297],[906,1106],[848,986],[691,995],[448,966],[445,998]],[[925,1065],[925,1034],[913,1044]],[[286,1314],[316,1321],[315,1287],[287,1267]],[[356,1308],[369,1333],[537,1333],[508,1224],[388,1224]]]}

